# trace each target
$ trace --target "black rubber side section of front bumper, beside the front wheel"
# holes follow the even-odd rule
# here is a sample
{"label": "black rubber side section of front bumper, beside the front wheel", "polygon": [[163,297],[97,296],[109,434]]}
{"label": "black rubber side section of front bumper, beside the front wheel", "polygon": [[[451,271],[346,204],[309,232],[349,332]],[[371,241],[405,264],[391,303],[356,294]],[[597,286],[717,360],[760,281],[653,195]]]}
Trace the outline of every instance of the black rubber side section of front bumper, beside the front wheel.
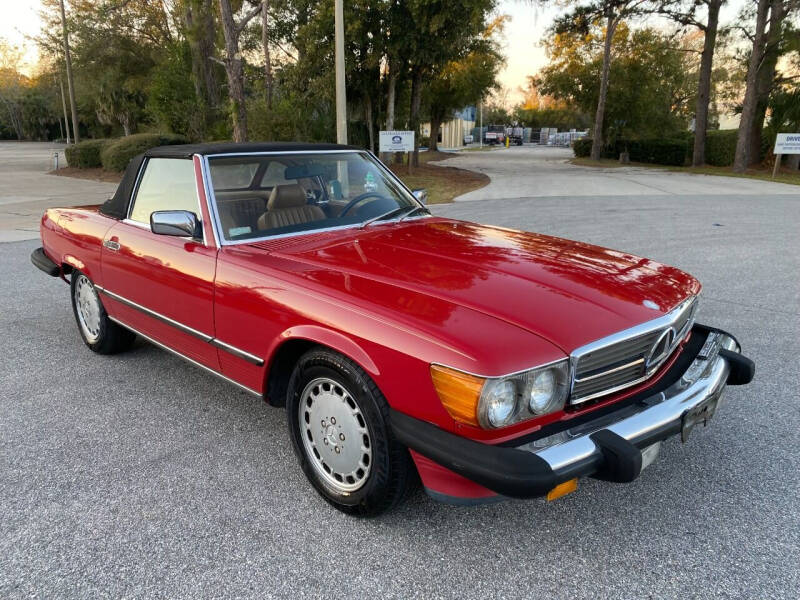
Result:
{"label": "black rubber side section of front bumper, beside the front wheel", "polygon": [[562,483],[531,452],[475,442],[395,410],[390,419],[400,443],[503,496],[536,498]]}

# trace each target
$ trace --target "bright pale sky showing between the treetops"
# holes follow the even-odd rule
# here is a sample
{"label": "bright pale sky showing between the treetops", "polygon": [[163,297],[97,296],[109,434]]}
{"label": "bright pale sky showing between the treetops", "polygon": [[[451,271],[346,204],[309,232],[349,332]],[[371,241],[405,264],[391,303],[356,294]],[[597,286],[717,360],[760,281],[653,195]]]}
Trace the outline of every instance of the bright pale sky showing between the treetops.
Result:
{"label": "bright pale sky showing between the treetops", "polygon": [[[746,0],[733,0],[725,7],[722,21],[725,22],[738,12]],[[26,50],[26,71],[30,72],[37,61],[36,44],[30,41],[39,32],[40,0],[2,0],[3,18],[0,19],[0,38],[12,44],[23,46]],[[520,88],[525,87],[526,77],[533,75],[547,62],[540,40],[553,17],[563,8],[549,6],[542,8],[533,2],[523,0],[501,0],[497,12],[511,17],[506,24],[504,51],[506,66],[500,74],[500,83],[508,90],[509,104],[522,99]]]}

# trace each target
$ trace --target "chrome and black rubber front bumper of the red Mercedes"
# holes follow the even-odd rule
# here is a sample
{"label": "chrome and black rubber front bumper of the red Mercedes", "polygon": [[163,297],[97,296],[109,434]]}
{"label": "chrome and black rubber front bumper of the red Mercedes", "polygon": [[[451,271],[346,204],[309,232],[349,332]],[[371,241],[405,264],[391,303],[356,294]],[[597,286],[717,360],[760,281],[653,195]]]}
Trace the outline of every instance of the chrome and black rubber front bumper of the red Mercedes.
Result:
{"label": "chrome and black rubber front bumper of the red Mercedes", "polygon": [[679,433],[685,440],[695,425],[711,418],[727,384],[743,385],[753,378],[753,362],[724,331],[695,325],[682,352],[651,389],[610,412],[517,440],[515,446],[476,442],[396,411],[392,429],[411,450],[503,496],[544,496],[583,476],[633,481],[642,470],[642,450]]}

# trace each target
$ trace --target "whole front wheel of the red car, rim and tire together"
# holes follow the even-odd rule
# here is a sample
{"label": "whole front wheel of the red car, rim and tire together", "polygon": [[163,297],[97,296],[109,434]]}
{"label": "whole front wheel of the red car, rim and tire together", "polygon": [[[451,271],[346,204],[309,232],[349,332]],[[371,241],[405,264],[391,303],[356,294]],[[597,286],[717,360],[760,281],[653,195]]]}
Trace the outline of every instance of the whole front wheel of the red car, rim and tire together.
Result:
{"label": "whole front wheel of the red car, rim and tire together", "polygon": [[386,399],[354,362],[326,349],[306,353],[289,381],[286,412],[303,472],[334,507],[368,517],[405,497],[411,457],[392,435]]}

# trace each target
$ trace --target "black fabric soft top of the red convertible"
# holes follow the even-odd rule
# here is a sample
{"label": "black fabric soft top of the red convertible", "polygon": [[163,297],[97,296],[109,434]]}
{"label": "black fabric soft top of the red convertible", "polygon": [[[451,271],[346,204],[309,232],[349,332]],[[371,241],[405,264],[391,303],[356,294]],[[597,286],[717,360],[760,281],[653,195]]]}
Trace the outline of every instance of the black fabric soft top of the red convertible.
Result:
{"label": "black fabric soft top of the red convertible", "polygon": [[131,159],[125,175],[117,187],[116,193],[103,203],[100,212],[115,219],[124,219],[128,215],[128,203],[136,186],[136,177],[146,158],[191,158],[195,154],[241,154],[255,152],[308,152],[326,150],[356,150],[356,146],[342,144],[309,144],[305,142],[215,142],[210,144],[181,144],[175,146],[158,146],[150,148],[144,154]]}

